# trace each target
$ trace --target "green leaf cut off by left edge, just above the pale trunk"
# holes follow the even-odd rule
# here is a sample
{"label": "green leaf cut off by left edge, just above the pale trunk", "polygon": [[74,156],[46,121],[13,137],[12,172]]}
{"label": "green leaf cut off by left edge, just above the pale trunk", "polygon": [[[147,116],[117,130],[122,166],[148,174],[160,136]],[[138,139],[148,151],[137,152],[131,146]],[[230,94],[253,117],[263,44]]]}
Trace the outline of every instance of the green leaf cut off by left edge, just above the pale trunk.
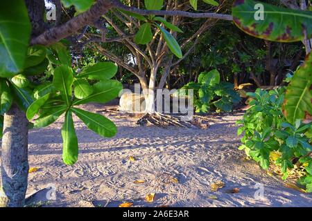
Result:
{"label": "green leaf cut off by left edge, just above the pale trunk", "polygon": [[6,113],[12,105],[13,97],[5,79],[0,79],[0,115]]}

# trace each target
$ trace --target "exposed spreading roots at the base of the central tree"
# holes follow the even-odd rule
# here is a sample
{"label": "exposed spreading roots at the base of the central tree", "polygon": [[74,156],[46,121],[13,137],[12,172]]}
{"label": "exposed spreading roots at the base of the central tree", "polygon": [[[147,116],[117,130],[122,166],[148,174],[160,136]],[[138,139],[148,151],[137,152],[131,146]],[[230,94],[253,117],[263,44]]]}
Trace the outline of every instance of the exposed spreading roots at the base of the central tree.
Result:
{"label": "exposed spreading roots at the base of the central tree", "polygon": [[191,121],[183,121],[180,115],[164,115],[162,113],[154,113],[149,114],[146,113],[143,117],[141,117],[137,124],[141,126],[145,126],[147,124],[159,126],[159,127],[167,127],[167,126],[177,126],[180,128],[208,128],[208,122],[202,123],[203,120],[197,117],[193,117]]}

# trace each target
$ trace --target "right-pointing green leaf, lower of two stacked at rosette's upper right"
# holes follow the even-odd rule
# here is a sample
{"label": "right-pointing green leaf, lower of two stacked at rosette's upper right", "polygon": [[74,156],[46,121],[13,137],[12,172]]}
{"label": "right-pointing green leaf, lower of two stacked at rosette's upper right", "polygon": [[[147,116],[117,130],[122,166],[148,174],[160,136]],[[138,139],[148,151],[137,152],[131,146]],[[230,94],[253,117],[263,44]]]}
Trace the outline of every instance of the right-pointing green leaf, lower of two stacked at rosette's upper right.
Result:
{"label": "right-pointing green leaf, lower of two stacked at rosette's upper right", "polygon": [[94,93],[84,99],[78,99],[73,105],[87,104],[89,102],[106,103],[118,97],[123,86],[119,81],[106,80],[100,81],[92,86]]}

